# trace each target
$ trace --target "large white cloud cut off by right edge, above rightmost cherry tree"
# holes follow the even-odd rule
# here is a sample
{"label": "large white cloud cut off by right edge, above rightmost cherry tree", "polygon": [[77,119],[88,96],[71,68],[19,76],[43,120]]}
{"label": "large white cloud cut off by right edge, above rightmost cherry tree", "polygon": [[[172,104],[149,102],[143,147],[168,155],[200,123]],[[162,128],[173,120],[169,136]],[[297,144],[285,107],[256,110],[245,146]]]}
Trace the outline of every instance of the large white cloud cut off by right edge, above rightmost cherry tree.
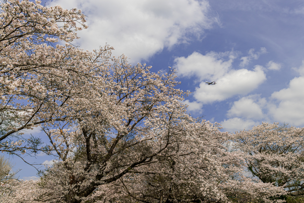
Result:
{"label": "large white cloud cut off by right edge, above rightmost cherry tree", "polygon": [[286,122],[295,126],[304,124],[304,77],[295,77],[289,82],[289,87],[271,94],[272,104],[269,113],[275,121]]}

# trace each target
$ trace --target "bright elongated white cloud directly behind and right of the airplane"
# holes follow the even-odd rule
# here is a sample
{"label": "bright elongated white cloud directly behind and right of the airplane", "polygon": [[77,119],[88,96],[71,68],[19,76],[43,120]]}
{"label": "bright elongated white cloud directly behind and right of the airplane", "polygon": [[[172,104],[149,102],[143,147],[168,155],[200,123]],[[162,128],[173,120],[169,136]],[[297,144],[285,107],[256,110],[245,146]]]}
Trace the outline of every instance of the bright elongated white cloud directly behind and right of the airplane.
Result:
{"label": "bright elongated white cloud directly behind and right of the airplane", "polygon": [[261,66],[255,66],[252,71],[247,69],[231,70],[216,80],[216,85],[207,85],[201,82],[195,89],[194,97],[202,103],[223,101],[234,95],[245,95],[256,89],[266,80]]}

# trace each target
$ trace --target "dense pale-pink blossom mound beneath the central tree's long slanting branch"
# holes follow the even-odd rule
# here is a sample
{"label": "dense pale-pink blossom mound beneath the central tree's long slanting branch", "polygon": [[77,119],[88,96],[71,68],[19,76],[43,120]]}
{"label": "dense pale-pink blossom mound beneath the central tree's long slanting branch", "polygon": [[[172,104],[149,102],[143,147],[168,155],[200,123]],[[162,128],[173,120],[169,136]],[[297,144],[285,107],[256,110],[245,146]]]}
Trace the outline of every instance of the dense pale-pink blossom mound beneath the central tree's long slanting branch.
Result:
{"label": "dense pale-pink blossom mound beneath the central tree's long slanting branch", "polygon": [[158,162],[103,185],[94,197],[109,202],[272,202],[271,196],[284,194],[243,175],[242,153],[228,152],[231,134],[206,121],[188,132],[172,146],[175,154],[161,153]]}

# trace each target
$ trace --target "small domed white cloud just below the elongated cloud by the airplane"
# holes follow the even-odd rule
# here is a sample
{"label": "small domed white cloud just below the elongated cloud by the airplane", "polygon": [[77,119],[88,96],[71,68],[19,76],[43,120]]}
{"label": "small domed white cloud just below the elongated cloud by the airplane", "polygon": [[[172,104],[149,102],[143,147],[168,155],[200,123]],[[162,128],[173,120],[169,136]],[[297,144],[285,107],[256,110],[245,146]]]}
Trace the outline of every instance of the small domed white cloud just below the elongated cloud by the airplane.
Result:
{"label": "small domed white cloud just below the elongated cloud by the airplane", "polygon": [[265,117],[263,107],[267,104],[265,98],[260,95],[249,95],[235,101],[230,110],[227,111],[228,117],[242,117],[246,119],[262,119]]}

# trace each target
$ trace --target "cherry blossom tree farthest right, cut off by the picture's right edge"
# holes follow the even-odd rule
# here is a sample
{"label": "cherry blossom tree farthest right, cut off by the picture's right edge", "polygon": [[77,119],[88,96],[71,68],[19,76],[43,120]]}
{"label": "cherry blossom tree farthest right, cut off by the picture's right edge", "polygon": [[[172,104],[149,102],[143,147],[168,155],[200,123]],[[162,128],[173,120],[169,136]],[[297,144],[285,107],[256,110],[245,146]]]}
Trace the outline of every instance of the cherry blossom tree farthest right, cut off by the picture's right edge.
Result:
{"label": "cherry blossom tree farthest right, cut off by the picture's right edge", "polygon": [[304,128],[262,123],[252,130],[237,132],[235,141],[254,176],[284,187],[289,195],[303,195]]}

